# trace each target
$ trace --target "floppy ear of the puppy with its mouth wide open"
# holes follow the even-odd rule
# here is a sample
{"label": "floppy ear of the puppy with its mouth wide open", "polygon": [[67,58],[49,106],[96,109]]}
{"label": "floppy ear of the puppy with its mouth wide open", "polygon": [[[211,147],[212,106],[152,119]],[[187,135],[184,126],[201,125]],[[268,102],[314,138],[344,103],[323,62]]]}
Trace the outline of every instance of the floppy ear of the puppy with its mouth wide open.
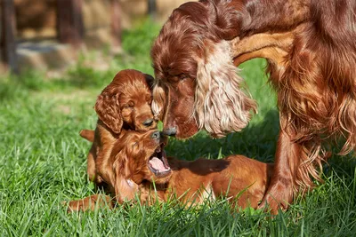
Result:
{"label": "floppy ear of the puppy with its mouth wide open", "polygon": [[113,164],[115,171],[115,197],[117,202],[134,200],[134,195],[138,193],[139,186],[130,178],[131,171],[128,167],[128,159],[125,147],[115,157]]}

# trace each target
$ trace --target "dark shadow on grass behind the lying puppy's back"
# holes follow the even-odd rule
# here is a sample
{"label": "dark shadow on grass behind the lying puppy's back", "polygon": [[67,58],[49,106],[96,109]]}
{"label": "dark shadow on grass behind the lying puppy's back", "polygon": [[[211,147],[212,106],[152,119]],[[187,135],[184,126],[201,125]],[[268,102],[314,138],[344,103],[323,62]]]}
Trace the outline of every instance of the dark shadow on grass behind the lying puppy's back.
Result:
{"label": "dark shadow on grass behind the lying puppy's back", "polygon": [[279,133],[279,112],[271,109],[261,122],[252,121],[240,132],[225,138],[213,139],[206,132],[187,140],[170,138],[166,147],[168,155],[185,160],[199,157],[220,159],[230,154],[243,154],[263,162],[272,162]]}

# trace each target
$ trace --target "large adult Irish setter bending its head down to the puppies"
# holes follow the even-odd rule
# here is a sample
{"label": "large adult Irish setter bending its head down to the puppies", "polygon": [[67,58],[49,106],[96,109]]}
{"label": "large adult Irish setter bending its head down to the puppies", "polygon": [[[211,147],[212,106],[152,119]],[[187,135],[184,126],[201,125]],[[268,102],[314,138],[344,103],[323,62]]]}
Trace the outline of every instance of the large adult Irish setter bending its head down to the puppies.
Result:
{"label": "large adult Irish setter bending its head down to the puppies", "polygon": [[202,0],[175,9],[152,46],[152,108],[166,133],[243,129],[256,106],[236,67],[268,60],[280,132],[264,206],[287,208],[320,178],[324,143],[356,145],[355,0]]}

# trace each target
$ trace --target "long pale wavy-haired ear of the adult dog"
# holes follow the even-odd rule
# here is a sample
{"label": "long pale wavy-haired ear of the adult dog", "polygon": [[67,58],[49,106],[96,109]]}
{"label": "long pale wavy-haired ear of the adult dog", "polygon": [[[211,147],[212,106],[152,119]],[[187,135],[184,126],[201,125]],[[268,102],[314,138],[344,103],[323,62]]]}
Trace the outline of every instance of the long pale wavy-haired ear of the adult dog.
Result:
{"label": "long pale wavy-haired ear of the adult dog", "polygon": [[199,129],[220,138],[245,128],[256,105],[241,89],[242,78],[232,63],[230,44],[207,43],[203,59],[197,59],[195,116]]}

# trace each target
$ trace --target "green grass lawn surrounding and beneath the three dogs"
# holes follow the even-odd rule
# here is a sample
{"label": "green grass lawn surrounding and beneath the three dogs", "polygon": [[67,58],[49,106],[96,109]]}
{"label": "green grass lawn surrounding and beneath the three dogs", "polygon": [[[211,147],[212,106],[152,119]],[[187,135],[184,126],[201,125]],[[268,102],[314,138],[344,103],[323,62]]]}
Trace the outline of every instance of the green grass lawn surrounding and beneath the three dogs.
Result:
{"label": "green grass lawn surrounding and beneath the three dogs", "polygon": [[[96,96],[118,70],[152,74],[150,43],[158,29],[144,22],[125,32],[126,53],[105,72],[86,67],[84,58],[59,78],[30,71],[0,78],[0,235],[355,236],[356,161],[351,156],[334,156],[325,166],[325,182],[273,219],[251,209],[231,210],[226,201],[199,208],[167,203],[66,213],[61,201],[94,193],[85,176],[90,144],[78,131],[94,128]],[[221,139],[204,132],[185,141],[171,139],[168,154],[187,160],[246,154],[272,162],[279,115],[263,66],[263,60],[253,60],[241,67],[259,104],[259,114],[245,130]]]}

